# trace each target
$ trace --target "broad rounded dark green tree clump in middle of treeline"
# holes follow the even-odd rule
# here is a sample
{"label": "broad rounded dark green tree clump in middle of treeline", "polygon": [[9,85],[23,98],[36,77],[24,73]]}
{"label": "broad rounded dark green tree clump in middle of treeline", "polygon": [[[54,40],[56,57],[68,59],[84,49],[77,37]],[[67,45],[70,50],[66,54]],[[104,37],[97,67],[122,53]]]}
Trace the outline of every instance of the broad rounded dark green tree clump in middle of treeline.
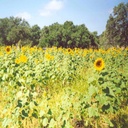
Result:
{"label": "broad rounded dark green tree clump in middle of treeline", "polygon": [[90,33],[84,24],[74,25],[72,21],[66,21],[64,24],[54,23],[45,26],[41,31],[39,46],[89,48],[97,45],[96,39],[96,35]]}

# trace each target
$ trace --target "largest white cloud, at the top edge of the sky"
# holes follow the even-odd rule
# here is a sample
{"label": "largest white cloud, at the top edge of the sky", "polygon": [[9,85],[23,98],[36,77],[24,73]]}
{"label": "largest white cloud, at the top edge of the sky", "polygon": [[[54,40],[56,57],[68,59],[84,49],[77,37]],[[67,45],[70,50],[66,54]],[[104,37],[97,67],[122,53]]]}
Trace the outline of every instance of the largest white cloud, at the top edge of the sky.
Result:
{"label": "largest white cloud, at the top edge of the sky", "polygon": [[62,0],[51,0],[47,3],[43,10],[40,12],[41,16],[49,16],[55,11],[59,11],[63,8],[64,1]]}

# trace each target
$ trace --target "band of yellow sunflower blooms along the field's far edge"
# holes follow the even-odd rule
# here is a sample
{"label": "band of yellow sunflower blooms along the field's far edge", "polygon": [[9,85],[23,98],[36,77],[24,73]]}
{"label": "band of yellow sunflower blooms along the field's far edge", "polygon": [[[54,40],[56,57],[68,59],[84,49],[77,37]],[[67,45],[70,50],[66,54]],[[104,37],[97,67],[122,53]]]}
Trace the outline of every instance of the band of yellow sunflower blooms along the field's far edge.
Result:
{"label": "band of yellow sunflower blooms along the field's far edge", "polygon": [[[87,54],[89,55],[90,54],[90,59],[93,58],[94,56],[94,53],[101,53],[102,55],[104,54],[109,54],[109,55],[112,55],[113,57],[117,56],[118,54],[121,53],[122,49],[121,48],[118,48],[118,49],[115,49],[115,48],[110,48],[108,50],[102,50],[102,49],[99,49],[99,50],[93,50],[93,49],[78,49],[78,48],[75,48],[75,49],[63,49],[63,48],[56,48],[56,47],[53,47],[53,48],[47,48],[46,51],[44,51],[42,48],[37,48],[37,47],[32,47],[32,48],[29,48],[29,47],[22,47],[22,48],[19,48],[19,47],[11,47],[11,46],[7,46],[5,48],[1,48],[1,51],[0,51],[0,54],[4,54],[4,50],[5,49],[5,52],[7,54],[11,54],[11,53],[16,53],[17,51],[20,51],[20,56],[19,58],[16,58],[15,59],[15,63],[16,64],[19,64],[19,63],[26,63],[28,58],[27,56],[29,56],[29,54],[31,55],[32,53],[34,52],[42,52],[42,54],[44,55],[44,52],[45,52],[45,58],[47,60],[53,60],[54,59],[54,56],[50,55],[50,54],[54,54],[55,53],[60,53],[62,52],[62,54],[68,54],[68,55],[72,55],[72,56],[86,56]],[[125,49],[126,51],[128,50],[128,48]],[[50,52],[50,54],[49,54]],[[24,55],[25,53],[25,55]],[[91,55],[92,54],[92,55]],[[126,53],[124,52],[124,56],[126,56]],[[38,58],[38,57],[37,57]],[[96,70],[102,70],[104,68],[104,61],[102,58],[98,58],[95,62],[94,62],[94,67]]]}

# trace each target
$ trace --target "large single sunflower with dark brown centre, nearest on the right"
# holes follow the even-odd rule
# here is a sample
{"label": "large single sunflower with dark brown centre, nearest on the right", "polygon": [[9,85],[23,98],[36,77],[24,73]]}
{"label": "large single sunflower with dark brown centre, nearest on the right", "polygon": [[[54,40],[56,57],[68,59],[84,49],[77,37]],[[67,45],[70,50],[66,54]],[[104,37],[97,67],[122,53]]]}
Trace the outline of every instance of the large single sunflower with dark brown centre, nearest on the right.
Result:
{"label": "large single sunflower with dark brown centre, nearest on the right", "polygon": [[104,68],[104,61],[102,58],[98,58],[94,62],[94,67],[96,70],[101,71]]}

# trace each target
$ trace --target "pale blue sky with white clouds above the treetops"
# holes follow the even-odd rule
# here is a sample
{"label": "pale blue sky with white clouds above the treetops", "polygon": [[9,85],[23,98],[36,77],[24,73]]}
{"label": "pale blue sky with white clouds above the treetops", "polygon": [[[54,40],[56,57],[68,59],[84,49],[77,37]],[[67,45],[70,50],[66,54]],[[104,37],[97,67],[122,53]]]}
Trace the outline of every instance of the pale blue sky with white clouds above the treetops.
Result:
{"label": "pale blue sky with white clouds above the treetops", "polygon": [[0,0],[0,18],[21,17],[41,28],[68,20],[101,34],[112,9],[121,2],[127,0]]}

